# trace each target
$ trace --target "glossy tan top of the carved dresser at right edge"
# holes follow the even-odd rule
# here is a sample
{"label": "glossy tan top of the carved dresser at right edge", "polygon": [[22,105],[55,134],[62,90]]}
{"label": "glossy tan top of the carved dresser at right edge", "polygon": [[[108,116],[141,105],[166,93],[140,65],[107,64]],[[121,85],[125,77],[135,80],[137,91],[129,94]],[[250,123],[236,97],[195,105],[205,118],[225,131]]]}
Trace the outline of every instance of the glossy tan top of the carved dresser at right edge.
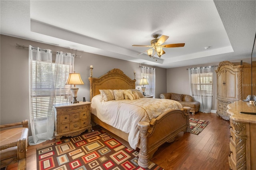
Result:
{"label": "glossy tan top of the carved dresser at right edge", "polygon": [[246,101],[235,101],[228,105],[227,113],[230,115],[230,119],[234,121],[255,123],[256,115],[244,114],[241,112],[256,113],[256,106]]}

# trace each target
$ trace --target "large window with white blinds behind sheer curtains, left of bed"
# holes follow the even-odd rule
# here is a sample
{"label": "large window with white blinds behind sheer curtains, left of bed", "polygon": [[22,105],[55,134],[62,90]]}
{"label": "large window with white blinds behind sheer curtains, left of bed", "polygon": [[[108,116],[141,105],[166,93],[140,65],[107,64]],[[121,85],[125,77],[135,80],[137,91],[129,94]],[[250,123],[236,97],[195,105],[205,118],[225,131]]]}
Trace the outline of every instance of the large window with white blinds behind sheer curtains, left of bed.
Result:
{"label": "large window with white blinds behind sheer curtains, left of bed", "polygon": [[[46,118],[54,112],[54,107],[50,103],[67,103],[71,99],[69,93],[70,85],[65,85],[68,79],[70,65],[58,64],[58,69],[62,69],[63,77],[53,81],[55,63],[44,61],[32,61],[31,80],[31,109],[33,119]],[[55,95],[53,88],[55,84]],[[64,86],[63,86],[64,85]]]}

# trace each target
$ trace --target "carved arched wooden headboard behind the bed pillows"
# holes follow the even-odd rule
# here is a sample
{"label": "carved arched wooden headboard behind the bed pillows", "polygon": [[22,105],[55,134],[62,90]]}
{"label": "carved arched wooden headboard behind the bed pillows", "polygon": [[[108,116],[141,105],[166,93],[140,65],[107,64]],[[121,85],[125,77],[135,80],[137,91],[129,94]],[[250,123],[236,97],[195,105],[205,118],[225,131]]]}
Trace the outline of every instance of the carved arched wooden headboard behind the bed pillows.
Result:
{"label": "carved arched wooden headboard behind the bed pillows", "polygon": [[135,89],[136,80],[130,79],[120,69],[112,69],[99,78],[89,77],[90,101],[92,97],[100,94],[100,89]]}

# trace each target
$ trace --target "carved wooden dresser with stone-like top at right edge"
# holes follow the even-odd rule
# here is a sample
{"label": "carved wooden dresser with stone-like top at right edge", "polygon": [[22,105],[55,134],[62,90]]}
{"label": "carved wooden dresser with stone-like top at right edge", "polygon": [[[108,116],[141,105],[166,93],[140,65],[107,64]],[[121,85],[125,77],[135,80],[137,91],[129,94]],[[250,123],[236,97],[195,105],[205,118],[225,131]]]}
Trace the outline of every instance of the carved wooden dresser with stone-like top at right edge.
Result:
{"label": "carved wooden dresser with stone-like top at right edge", "polygon": [[229,166],[232,170],[256,170],[256,106],[236,101],[228,105],[230,115]]}

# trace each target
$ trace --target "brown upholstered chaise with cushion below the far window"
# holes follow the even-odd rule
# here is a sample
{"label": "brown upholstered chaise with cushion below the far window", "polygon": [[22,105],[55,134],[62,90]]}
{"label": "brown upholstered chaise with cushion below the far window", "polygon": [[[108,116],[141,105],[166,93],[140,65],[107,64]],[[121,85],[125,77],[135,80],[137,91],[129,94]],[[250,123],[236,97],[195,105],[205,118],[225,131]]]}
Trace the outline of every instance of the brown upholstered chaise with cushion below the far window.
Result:
{"label": "brown upholstered chaise with cushion below the far window", "polygon": [[190,107],[190,112],[195,114],[199,111],[200,103],[198,101],[193,101],[193,97],[190,95],[183,95],[177,93],[162,93],[160,94],[161,99],[172,99],[178,101],[184,107]]}

